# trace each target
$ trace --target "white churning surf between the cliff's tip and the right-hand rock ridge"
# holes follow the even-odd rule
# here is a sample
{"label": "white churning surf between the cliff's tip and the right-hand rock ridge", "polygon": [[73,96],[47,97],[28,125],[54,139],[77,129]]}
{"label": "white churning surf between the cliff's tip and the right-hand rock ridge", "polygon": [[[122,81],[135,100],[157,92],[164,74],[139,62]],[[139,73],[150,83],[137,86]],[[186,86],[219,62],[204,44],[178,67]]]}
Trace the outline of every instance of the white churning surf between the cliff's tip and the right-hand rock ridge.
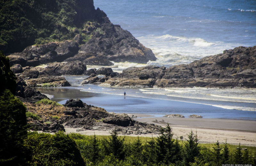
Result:
{"label": "white churning surf between the cliff's tip and the right-hand rock ridge", "polygon": [[225,45],[222,42],[210,42],[201,38],[187,38],[165,35],[148,35],[138,37],[146,47],[152,49],[158,60],[148,64],[170,67],[177,64],[189,64],[206,56],[216,55],[225,49],[235,46]]}

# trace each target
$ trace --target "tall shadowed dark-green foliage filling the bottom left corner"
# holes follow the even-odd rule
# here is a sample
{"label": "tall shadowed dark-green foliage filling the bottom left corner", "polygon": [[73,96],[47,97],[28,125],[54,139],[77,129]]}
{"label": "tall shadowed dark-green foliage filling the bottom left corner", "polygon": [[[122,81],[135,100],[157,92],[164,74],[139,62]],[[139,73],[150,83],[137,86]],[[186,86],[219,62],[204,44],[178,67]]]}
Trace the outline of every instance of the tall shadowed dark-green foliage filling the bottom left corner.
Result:
{"label": "tall shadowed dark-green foliage filling the bottom left corner", "polygon": [[20,165],[25,159],[26,108],[10,90],[0,96],[0,108],[0,165]]}

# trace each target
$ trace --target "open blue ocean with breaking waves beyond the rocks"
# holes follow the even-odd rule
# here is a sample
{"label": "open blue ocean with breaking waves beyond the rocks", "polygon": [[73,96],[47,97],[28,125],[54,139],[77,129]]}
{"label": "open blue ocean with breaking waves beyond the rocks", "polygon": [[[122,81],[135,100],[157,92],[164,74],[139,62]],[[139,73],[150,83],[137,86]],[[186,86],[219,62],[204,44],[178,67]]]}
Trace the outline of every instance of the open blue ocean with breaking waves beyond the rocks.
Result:
{"label": "open blue ocean with breaking waves beyond the rocks", "polygon": [[94,0],[158,60],[188,64],[225,49],[256,45],[255,0]]}

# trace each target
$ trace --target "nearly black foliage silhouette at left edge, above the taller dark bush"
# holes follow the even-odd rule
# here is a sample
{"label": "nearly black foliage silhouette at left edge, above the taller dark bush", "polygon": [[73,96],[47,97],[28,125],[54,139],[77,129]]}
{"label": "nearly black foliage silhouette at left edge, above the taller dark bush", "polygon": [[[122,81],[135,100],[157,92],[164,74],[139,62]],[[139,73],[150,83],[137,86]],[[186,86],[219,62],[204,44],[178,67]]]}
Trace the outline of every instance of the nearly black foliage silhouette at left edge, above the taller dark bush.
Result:
{"label": "nearly black foliage silhouette at left edge, above the taller dark bush", "polygon": [[10,69],[9,59],[5,57],[3,51],[0,50],[0,95],[5,89],[9,89],[12,94],[16,90],[16,76]]}

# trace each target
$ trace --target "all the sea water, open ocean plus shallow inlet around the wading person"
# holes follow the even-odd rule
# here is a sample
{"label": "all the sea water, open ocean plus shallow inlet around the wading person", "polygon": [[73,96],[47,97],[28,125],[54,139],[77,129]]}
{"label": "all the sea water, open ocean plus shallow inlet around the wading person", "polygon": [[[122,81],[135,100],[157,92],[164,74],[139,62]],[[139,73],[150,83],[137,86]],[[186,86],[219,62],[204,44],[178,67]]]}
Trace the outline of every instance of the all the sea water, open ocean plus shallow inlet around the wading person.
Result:
{"label": "all the sea water, open ocean plus shallow inlet around the wading person", "polygon": [[[157,60],[114,63],[115,72],[132,66],[189,64],[225,49],[256,45],[255,0],[94,0],[113,24],[129,31]],[[101,66],[87,66],[100,68]],[[256,120],[256,89],[112,88],[80,85],[86,76],[65,76],[72,87],[38,89],[64,104],[80,98],[116,113],[154,116],[178,113],[204,118]],[[124,98],[124,91],[127,93]],[[61,93],[60,93],[61,92]]]}

